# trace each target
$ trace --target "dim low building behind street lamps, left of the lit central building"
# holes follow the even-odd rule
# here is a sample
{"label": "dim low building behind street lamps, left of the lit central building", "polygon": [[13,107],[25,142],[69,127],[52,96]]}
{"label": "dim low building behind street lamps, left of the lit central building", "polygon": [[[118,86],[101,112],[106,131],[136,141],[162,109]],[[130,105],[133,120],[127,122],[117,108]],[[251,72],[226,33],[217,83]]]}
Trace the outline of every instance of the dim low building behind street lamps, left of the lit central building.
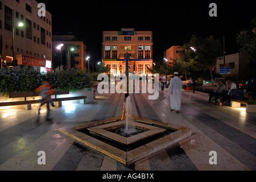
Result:
{"label": "dim low building behind street lamps, left of the lit central building", "polygon": [[[57,49],[60,44],[63,44],[61,50]],[[53,69],[58,67],[86,69],[86,52],[85,43],[74,35],[53,35]]]}

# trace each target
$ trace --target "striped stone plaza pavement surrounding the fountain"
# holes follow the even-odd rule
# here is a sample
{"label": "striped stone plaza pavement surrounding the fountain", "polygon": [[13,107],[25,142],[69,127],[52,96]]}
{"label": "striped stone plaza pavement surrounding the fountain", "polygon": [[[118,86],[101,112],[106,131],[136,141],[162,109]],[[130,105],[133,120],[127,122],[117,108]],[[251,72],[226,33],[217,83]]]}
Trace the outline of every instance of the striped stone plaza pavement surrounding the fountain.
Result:
{"label": "striped stone plaza pavement surrounding the fountain", "polygon": [[[125,94],[98,94],[90,104],[51,107],[52,122],[41,120],[32,110],[0,110],[1,171],[255,171],[256,114],[245,108],[231,108],[207,102],[207,94],[182,91],[179,114],[170,110],[168,90],[157,100],[147,94],[130,94],[132,113],[142,118],[189,127],[191,137],[134,165],[121,163],[81,146],[57,130],[111,117],[122,117]],[[38,151],[45,151],[46,164],[38,164]],[[210,151],[217,152],[217,164],[209,164]]]}

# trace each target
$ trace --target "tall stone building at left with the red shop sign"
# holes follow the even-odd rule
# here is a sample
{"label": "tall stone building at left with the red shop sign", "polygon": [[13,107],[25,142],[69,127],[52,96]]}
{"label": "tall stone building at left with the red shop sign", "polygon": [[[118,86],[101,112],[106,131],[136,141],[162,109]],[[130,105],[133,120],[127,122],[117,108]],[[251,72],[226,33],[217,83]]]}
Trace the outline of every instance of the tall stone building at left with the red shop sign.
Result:
{"label": "tall stone building at left with the red shop sign", "polygon": [[[51,62],[51,14],[45,10],[38,16],[39,9],[35,0],[0,0],[1,67],[18,64],[39,69],[45,68],[47,60]],[[22,27],[18,26],[21,22]]]}

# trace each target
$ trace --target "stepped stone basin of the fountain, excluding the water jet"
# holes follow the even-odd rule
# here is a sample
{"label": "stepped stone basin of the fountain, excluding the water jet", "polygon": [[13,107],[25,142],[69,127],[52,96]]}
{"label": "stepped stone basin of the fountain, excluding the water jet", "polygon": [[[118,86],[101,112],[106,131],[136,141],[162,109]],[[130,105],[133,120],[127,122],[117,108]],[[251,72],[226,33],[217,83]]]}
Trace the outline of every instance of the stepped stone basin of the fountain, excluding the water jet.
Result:
{"label": "stepped stone basin of the fountain, excluding the water jet", "polygon": [[[118,127],[125,124],[124,121],[121,121],[121,119],[117,118],[109,118],[103,121],[91,122],[87,125],[78,127],[62,128],[58,129],[58,131],[68,137],[75,139],[77,142],[87,147],[91,147],[99,152],[102,152],[102,154],[105,154],[110,158],[117,160],[125,166],[129,166],[137,162],[138,160],[154,154],[155,152],[173,146],[173,144],[178,143],[179,141],[190,137],[191,135],[191,130],[185,126],[173,126],[170,123],[163,123],[139,117],[133,118],[134,125],[136,125],[137,127],[145,128],[147,129],[147,131],[127,138],[108,131],[113,128],[117,129]],[[174,130],[174,132],[166,135],[159,135],[158,138],[149,140],[150,138],[158,135],[159,133],[164,133],[166,129]],[[121,143],[122,145],[131,146],[134,144],[135,147],[132,147],[128,151],[121,150],[117,146],[109,144],[104,140],[100,140],[96,137],[93,137],[92,135],[82,133],[82,131],[84,130],[88,130],[95,133],[96,135],[101,135],[104,138],[110,140],[115,140],[115,142]],[[147,142],[143,143],[146,140]],[[136,144],[138,143],[142,143],[142,145],[136,146]],[[118,144],[118,146],[120,146],[121,144]]]}

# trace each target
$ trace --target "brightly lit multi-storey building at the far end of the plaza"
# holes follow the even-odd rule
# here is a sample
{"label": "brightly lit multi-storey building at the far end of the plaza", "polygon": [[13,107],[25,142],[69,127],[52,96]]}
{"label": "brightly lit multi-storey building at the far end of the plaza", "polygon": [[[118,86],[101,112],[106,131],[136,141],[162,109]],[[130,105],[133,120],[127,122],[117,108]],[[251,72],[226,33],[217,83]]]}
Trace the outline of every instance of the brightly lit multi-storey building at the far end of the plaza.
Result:
{"label": "brightly lit multi-storey building at the far end of the plaza", "polygon": [[129,73],[149,73],[153,64],[152,31],[134,31],[134,28],[103,31],[102,64],[108,66],[109,73],[115,76],[125,73],[125,53],[129,53]]}

